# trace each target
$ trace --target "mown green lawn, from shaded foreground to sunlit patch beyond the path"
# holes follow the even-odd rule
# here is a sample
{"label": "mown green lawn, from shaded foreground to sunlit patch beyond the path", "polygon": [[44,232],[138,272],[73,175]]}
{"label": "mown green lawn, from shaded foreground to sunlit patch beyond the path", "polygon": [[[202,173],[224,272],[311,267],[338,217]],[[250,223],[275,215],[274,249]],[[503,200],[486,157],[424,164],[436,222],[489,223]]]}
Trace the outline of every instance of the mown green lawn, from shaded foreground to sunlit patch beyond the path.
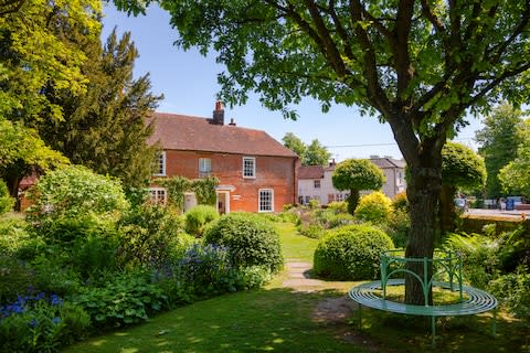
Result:
{"label": "mown green lawn, from shaded foreground to sunlit patch beyond the path", "polygon": [[[290,224],[280,224],[279,233],[285,258],[312,261],[318,240],[298,235]],[[328,282],[320,291],[300,292],[282,288],[284,277],[261,290],[174,309],[65,352],[530,352],[528,323],[502,313],[495,339],[490,313],[438,319],[436,349],[430,346],[427,318],[363,309],[362,331],[357,314],[347,322],[317,322],[317,304],[343,296],[351,284]]]}

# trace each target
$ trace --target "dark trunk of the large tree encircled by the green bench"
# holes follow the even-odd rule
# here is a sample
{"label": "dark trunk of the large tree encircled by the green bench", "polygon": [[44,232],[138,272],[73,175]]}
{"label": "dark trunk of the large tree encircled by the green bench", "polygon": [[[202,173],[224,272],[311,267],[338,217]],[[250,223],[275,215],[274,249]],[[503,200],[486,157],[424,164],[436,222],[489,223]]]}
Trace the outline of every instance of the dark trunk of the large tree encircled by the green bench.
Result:
{"label": "dark trunk of the large tree encircled by the green bench", "polygon": [[[434,153],[433,153],[434,154]],[[411,205],[411,233],[406,245],[407,258],[433,258],[437,234],[436,211],[442,189],[442,157],[431,154],[422,158],[417,164],[410,165],[411,180],[406,194]],[[431,264],[431,263],[428,263]],[[424,265],[409,261],[406,268],[424,278]],[[427,281],[432,277],[432,266],[427,266]],[[427,292],[427,301],[432,303],[432,288]],[[405,303],[425,304],[425,296],[417,278],[405,276]]]}

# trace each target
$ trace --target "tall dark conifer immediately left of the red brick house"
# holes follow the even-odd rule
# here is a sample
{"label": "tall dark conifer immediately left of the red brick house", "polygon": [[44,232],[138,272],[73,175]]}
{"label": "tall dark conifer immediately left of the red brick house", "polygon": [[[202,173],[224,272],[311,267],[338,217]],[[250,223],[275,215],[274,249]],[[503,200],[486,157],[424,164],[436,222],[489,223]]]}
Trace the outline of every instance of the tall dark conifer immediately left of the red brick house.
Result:
{"label": "tall dark conifer immediately left of the red brick house", "polygon": [[86,94],[49,87],[49,99],[62,107],[64,119],[41,125],[41,135],[73,163],[142,186],[157,151],[146,142],[151,135],[146,118],[161,97],[151,94],[149,75],[132,78],[138,52],[130,33],[118,39],[114,30],[103,47],[99,40],[88,41],[85,53]]}

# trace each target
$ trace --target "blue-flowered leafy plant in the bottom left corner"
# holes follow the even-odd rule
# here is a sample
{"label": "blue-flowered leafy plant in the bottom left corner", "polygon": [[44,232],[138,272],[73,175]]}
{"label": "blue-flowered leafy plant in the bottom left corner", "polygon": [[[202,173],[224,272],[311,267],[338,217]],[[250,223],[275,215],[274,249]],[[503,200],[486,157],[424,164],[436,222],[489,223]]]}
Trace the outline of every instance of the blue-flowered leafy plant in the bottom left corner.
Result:
{"label": "blue-flowered leafy plant in the bottom left corner", "polygon": [[91,325],[82,308],[44,292],[0,307],[1,352],[55,352],[83,338]]}

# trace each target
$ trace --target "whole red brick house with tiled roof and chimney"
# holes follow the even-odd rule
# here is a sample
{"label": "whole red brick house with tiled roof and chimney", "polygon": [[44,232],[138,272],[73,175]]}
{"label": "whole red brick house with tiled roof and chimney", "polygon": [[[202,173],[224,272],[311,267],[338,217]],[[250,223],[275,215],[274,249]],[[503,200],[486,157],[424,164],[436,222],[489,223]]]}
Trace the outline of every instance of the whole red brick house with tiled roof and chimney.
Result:
{"label": "whole red brick house with tiled roof and chimney", "polygon": [[[149,142],[162,148],[155,176],[215,175],[220,213],[279,212],[296,203],[298,156],[265,131],[225,125],[220,101],[211,119],[155,113],[150,122]],[[166,191],[152,185],[151,197],[166,200]]]}

